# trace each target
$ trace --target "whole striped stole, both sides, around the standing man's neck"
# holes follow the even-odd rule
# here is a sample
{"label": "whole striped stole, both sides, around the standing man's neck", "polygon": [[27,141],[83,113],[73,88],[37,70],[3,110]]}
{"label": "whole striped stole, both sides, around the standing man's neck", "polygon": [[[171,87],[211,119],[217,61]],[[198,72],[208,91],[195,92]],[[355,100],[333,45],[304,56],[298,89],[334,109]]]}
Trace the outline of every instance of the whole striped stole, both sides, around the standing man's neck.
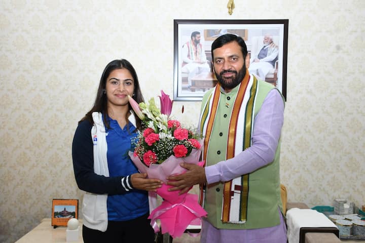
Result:
{"label": "whole striped stole, both sides, around the standing man's neck", "polygon": [[[233,158],[251,145],[254,100],[258,89],[258,80],[246,72],[237,97],[234,101],[229,123],[226,159]],[[202,151],[206,161],[210,135],[212,132],[216,109],[221,95],[221,85],[217,84],[208,97],[200,116],[200,131],[204,137]],[[245,125],[245,126],[238,126]],[[206,165],[206,162],[204,166]],[[229,223],[245,223],[247,217],[249,175],[243,175],[224,183],[222,221]],[[199,203],[204,204],[204,188],[201,186]]]}

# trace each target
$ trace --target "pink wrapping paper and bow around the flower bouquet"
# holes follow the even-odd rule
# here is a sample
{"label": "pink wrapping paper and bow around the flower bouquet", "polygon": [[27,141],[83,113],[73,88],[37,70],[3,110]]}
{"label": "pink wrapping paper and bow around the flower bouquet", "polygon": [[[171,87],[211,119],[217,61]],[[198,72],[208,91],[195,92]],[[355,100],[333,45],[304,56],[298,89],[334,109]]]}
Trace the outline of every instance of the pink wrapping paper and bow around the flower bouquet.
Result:
{"label": "pink wrapping paper and bow around the flower bouquet", "polygon": [[[147,173],[149,178],[166,182],[168,176],[186,172],[186,169],[180,167],[180,163],[203,166],[204,161],[199,162],[200,152],[200,149],[193,149],[187,157],[170,156],[162,164],[152,164],[150,167],[143,164],[138,157],[134,157],[133,152],[130,151],[129,156],[140,173]],[[170,187],[163,184],[161,188],[157,189],[157,194],[164,199],[160,206],[157,206],[156,192],[149,191],[151,213],[149,219],[151,219],[155,232],[159,231],[156,220],[160,219],[162,233],[167,232],[175,238],[181,236],[189,225],[200,225],[201,217],[206,217],[207,213],[199,205],[198,195],[188,192],[179,195],[179,191],[168,191]]]}

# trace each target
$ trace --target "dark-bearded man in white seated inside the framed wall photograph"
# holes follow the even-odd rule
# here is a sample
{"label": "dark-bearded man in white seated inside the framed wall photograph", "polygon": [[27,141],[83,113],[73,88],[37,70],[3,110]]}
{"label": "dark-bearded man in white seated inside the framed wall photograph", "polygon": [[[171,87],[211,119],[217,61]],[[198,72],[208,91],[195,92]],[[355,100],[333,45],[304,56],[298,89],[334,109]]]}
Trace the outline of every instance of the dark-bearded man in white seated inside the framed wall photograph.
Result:
{"label": "dark-bearded man in white seated inside the framed wall photograph", "polygon": [[182,46],[182,73],[188,73],[188,85],[191,86],[191,79],[201,72],[210,72],[203,45],[200,43],[200,32],[194,31],[190,41]]}

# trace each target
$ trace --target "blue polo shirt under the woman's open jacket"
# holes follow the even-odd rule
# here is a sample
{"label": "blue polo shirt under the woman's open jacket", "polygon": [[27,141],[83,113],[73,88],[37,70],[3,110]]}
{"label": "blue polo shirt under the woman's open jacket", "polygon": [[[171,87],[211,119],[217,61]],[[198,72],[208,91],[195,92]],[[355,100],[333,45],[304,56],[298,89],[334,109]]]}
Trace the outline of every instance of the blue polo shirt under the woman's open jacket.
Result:
{"label": "blue polo shirt under the woman's open jacket", "polygon": [[[138,173],[128,155],[128,151],[133,150],[131,139],[137,136],[137,133],[133,132],[135,127],[129,122],[122,129],[117,120],[110,117],[108,119],[111,127],[111,129],[106,129],[106,157],[109,176],[128,176]],[[123,194],[109,194],[107,211],[108,220],[111,221],[125,221],[142,216],[149,212],[148,193],[144,190],[133,189]]]}

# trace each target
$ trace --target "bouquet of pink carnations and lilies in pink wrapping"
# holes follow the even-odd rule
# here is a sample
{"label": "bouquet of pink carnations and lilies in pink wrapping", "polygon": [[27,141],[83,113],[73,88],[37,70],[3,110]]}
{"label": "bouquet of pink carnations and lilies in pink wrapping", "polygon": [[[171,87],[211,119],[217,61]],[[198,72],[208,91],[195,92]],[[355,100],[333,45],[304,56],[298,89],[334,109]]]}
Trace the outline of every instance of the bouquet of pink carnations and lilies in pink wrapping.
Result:
{"label": "bouquet of pink carnations and lilies in pink wrapping", "polygon": [[[199,162],[201,140],[192,129],[183,128],[179,121],[169,119],[173,101],[161,91],[160,109],[154,98],[149,103],[137,104],[128,96],[136,115],[142,120],[142,131],[132,143],[134,151],[129,152],[133,163],[141,173],[147,173],[149,178],[166,182],[166,177],[184,173],[186,169],[180,163]],[[157,207],[157,194],[149,191],[151,225],[155,232],[159,231],[156,220],[161,223],[162,233],[168,232],[172,237],[179,237],[188,225],[200,225],[201,217],[206,216],[205,210],[198,204],[198,195],[178,191],[168,191],[171,186],[163,184],[157,189],[157,194],[164,200]]]}

